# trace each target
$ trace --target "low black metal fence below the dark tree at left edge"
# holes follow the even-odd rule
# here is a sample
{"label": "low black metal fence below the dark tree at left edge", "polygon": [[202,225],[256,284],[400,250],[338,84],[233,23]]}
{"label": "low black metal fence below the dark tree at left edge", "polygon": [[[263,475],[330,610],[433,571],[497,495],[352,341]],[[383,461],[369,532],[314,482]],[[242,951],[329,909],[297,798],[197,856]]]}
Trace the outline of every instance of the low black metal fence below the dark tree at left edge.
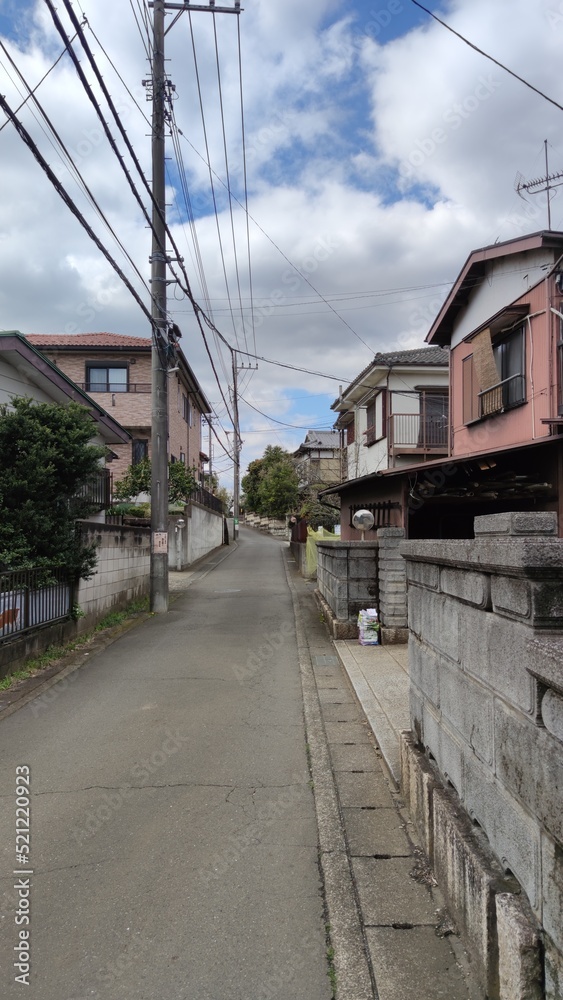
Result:
{"label": "low black metal fence below the dark tree at left edge", "polygon": [[0,643],[69,618],[74,581],[66,566],[0,573]]}

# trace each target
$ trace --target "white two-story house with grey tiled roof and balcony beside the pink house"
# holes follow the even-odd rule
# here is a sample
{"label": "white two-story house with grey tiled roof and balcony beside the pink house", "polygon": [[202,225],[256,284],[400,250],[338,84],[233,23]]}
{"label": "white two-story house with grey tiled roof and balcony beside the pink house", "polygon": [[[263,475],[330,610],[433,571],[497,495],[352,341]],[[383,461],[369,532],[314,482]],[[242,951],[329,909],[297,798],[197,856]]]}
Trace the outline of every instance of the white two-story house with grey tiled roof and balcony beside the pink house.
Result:
{"label": "white two-story house with grey tiled roof and balcony beside the pink house", "polygon": [[331,407],[343,479],[447,455],[448,366],[439,347],[375,355]]}

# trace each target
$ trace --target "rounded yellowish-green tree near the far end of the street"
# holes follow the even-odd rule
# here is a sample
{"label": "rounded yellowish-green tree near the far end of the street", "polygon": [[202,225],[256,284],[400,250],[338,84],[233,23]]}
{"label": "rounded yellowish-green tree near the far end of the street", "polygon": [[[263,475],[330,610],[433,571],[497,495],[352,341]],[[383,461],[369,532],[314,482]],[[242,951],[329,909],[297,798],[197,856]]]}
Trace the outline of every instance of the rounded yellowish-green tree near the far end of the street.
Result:
{"label": "rounded yellowish-green tree near the far end of the street", "polygon": [[242,488],[244,505],[255,514],[283,518],[295,510],[298,477],[289,452],[268,445],[262,458],[248,466]]}

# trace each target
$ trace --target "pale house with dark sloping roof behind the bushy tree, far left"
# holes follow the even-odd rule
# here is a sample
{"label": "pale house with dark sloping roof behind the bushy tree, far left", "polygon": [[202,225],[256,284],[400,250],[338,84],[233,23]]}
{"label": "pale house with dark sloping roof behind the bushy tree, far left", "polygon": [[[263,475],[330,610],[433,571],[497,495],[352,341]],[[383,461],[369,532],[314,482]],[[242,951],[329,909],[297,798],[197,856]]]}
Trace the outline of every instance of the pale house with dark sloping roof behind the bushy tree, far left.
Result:
{"label": "pale house with dark sloping roof behind the bushy tree, far left", "polygon": [[[130,434],[100,403],[68,378],[17,330],[0,332],[0,403],[26,396],[38,403],[80,403],[92,417],[92,442],[108,454],[131,448]],[[109,472],[100,470],[99,488],[92,494],[100,509],[109,506]]]}

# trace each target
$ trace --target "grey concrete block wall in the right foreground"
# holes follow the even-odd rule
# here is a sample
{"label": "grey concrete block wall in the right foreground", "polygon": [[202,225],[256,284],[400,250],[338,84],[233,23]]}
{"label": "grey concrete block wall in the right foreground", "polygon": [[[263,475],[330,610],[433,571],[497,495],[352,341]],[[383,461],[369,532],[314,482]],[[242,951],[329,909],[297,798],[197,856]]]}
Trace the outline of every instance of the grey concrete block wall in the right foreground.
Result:
{"label": "grey concrete block wall in the right foreground", "polygon": [[[409,541],[401,552],[412,734],[434,776],[407,754],[405,794],[456,919],[469,928],[487,995],[561,1000],[563,542],[555,514],[479,517],[474,540]],[[482,921],[471,931],[467,884],[456,889],[471,867],[467,851],[457,875],[452,866],[452,845],[467,844],[467,830],[454,836],[445,819],[456,811],[484,838],[489,867],[521,892],[518,904],[503,903],[502,880],[482,881],[484,938]],[[527,985],[515,993],[519,976]]]}

